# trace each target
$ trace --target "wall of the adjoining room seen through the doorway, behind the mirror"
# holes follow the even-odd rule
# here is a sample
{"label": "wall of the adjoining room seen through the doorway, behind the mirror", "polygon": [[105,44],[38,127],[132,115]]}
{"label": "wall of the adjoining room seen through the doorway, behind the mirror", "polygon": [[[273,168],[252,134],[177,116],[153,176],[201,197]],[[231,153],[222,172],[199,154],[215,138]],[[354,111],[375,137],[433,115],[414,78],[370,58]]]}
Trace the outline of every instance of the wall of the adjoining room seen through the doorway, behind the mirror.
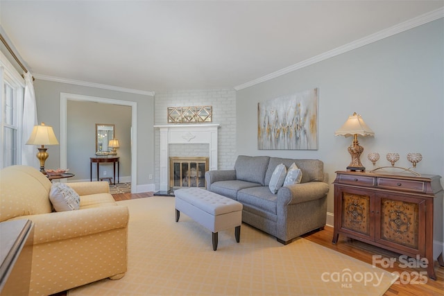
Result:
{"label": "wall of the adjoining room seen through the doorway, behind the mirror", "polygon": [[[114,124],[114,137],[119,140],[120,182],[131,176],[131,107],[85,101],[67,101],[67,167],[76,174],[69,182],[89,181],[89,157],[96,150],[96,123]],[[112,177],[112,164],[100,164],[99,177],[107,171]],[[117,173],[116,173],[117,174]],[[92,165],[92,178],[96,180],[96,164]],[[129,180],[128,180],[129,179]],[[117,182],[117,180],[116,180]]]}

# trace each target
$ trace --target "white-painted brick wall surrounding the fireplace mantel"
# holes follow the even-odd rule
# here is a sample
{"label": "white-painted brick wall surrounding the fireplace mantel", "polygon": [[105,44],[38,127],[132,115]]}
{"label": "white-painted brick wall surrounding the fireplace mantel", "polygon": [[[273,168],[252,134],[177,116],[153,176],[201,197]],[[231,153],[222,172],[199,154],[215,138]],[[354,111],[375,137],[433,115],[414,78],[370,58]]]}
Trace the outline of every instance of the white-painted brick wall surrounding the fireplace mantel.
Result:
{"label": "white-painted brick wall surrounding the fireplace mantel", "polygon": [[[220,124],[218,132],[218,168],[232,169],[236,155],[236,92],[233,89],[202,89],[156,92],[155,124],[167,124],[168,107],[206,105],[213,107],[212,123]],[[155,131],[155,184],[156,190],[158,190],[160,184],[159,130]]]}

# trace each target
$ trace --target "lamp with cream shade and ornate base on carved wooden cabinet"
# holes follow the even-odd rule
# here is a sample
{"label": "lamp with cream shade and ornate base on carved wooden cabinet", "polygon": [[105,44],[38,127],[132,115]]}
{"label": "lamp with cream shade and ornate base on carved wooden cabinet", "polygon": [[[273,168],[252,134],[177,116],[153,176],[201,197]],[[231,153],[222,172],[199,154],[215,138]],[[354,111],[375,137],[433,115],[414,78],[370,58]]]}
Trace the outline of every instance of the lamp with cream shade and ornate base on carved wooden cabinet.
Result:
{"label": "lamp with cream shade and ornate base on carved wooden cabinet", "polygon": [[364,151],[364,147],[359,146],[358,134],[362,137],[374,136],[375,132],[371,130],[364,122],[361,115],[353,113],[352,116],[348,116],[347,121],[334,132],[335,136],[353,136],[352,145],[348,147],[348,153],[352,156],[352,162],[347,166],[350,171],[366,171],[366,168],[361,164],[361,154]]}

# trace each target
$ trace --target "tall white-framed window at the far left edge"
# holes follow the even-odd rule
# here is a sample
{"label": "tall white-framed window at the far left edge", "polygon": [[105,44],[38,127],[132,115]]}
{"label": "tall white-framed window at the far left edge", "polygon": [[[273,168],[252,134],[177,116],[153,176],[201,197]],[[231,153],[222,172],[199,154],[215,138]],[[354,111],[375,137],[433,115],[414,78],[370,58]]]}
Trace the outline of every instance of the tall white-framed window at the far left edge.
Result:
{"label": "tall white-framed window at the far left edge", "polygon": [[0,168],[20,164],[24,80],[0,53]]}

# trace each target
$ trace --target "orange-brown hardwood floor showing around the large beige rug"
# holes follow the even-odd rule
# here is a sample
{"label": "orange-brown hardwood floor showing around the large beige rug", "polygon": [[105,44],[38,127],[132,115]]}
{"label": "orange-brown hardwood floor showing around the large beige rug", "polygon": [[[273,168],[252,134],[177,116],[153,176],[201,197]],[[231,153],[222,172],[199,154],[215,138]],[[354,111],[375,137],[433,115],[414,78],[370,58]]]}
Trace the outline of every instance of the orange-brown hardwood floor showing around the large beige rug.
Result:
{"label": "orange-brown hardwood floor showing around the large beige rug", "polygon": [[[153,195],[153,192],[147,192],[136,194],[120,193],[114,194],[112,196],[116,201],[119,201],[133,200],[136,198],[149,198]],[[318,243],[319,245],[323,245],[324,247],[328,247],[337,252],[341,252],[342,254],[351,256],[360,261],[369,263],[370,265],[373,263],[373,255],[382,255],[382,259],[399,259],[400,256],[400,254],[397,254],[395,252],[384,250],[373,245],[368,245],[360,241],[351,240],[349,238],[345,238],[345,236],[342,235],[339,235],[339,240],[336,245],[334,245],[332,243],[333,228],[329,226],[326,226],[325,229],[321,231],[305,234],[302,237],[314,243]],[[416,283],[413,281],[413,277],[415,275],[420,275],[420,272],[424,272],[424,268],[400,268],[400,262],[398,260],[396,260],[396,262],[393,264],[393,267],[388,268],[383,268],[380,264],[377,264],[377,267],[379,268],[383,268],[390,272],[397,272],[399,275],[401,275],[400,284],[393,284],[384,295],[444,295],[444,267],[439,266],[438,262],[436,261],[434,263],[437,276],[436,281],[429,279],[428,277],[419,277]],[[424,284],[419,284],[420,282],[424,281]],[[67,293],[61,292],[55,295],[66,296]]]}

